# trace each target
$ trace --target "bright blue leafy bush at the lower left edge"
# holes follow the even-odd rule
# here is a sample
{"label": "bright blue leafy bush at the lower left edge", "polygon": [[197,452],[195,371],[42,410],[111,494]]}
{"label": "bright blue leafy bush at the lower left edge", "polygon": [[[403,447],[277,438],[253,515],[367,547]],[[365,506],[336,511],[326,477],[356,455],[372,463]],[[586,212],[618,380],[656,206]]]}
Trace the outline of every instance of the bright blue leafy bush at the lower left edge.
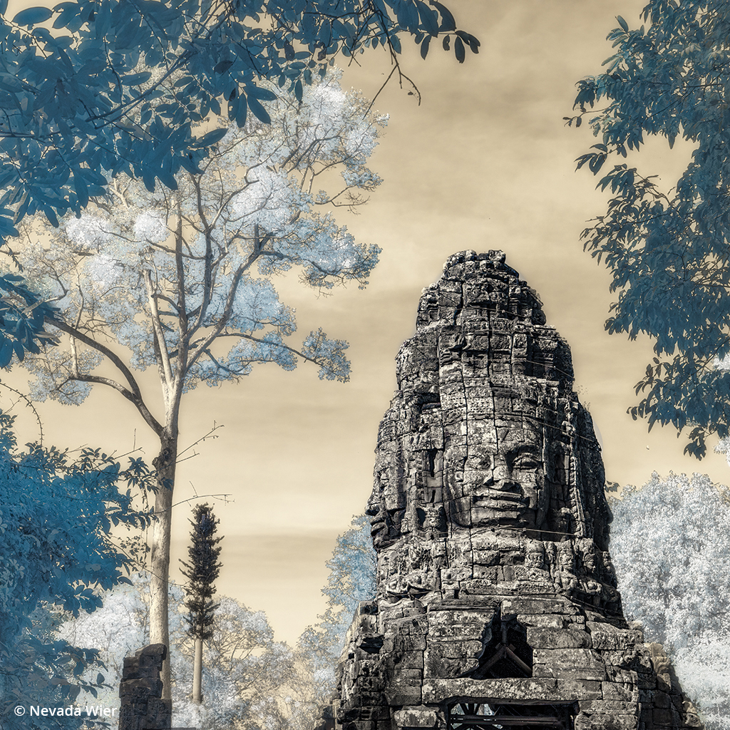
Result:
{"label": "bright blue leafy bush at the lower left edge", "polygon": [[[55,636],[58,613],[78,616],[101,606],[94,589],[128,582],[130,559],[115,544],[112,526],[149,525],[131,505],[131,488],[150,485],[137,458],[126,469],[99,450],[72,458],[53,447],[16,447],[14,417],[0,412],[0,723],[27,726],[16,705],[70,704],[81,689],[102,685],[82,678],[96,650]],[[120,491],[120,486],[126,491]],[[96,672],[94,672],[96,675]],[[68,728],[72,718],[35,718]]]}

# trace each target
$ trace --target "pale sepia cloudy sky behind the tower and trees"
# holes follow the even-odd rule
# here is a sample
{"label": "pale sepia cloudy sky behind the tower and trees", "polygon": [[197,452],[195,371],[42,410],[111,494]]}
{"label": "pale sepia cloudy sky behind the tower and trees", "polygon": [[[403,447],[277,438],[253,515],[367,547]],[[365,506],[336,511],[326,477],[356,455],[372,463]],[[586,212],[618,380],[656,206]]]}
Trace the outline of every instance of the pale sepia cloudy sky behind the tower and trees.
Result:
{"label": "pale sepia cloudy sky behind the tower and trees", "polygon": [[[318,297],[296,277],[282,283],[302,337],[322,326],[350,342],[350,383],[320,381],[307,364],[295,372],[259,366],[238,385],[200,386],[185,396],[183,446],[214,421],[224,427],[180,464],[176,502],[230,493],[228,503],[201,500],[213,505],[226,536],[218,592],[265,610],[280,640],[295,642],[325,607],[325,561],[372,487],[377,424],[396,385],[393,360],[415,330],[421,289],[458,250],[504,250],[507,264],[539,293],[548,324],[572,348],[575,387],[600,429],[607,479],[643,484],[654,470],[670,469],[723,483],[730,477],[723,456],[685,457],[675,431],[648,434],[644,421],[626,415],[650,343],[606,334],[610,278],[579,239],[606,198],[587,170],[574,172],[575,158],[594,143],[590,131],[567,128],[563,117],[571,114],[575,82],[600,72],[611,55],[605,37],[615,16],[636,26],[643,2],[444,1],[458,26],[480,39],[480,54],[467,50],[459,65],[434,44],[423,61],[404,43],[403,69],[423,101],[419,107],[394,81],[380,94],[375,108],[391,118],[371,166],[384,183],[360,215],[337,211],[358,240],[383,248],[369,287]],[[358,61],[362,68],[348,69],[343,85],[372,97],[390,72],[388,58],[378,50]],[[689,151],[677,145],[669,153],[657,142],[636,160],[669,188]],[[145,383],[155,388],[153,379]],[[147,460],[156,454],[146,427],[116,393],[94,392],[81,407],[43,404],[39,412],[47,443],[122,453],[137,429]],[[193,504],[174,513],[177,580]]]}

